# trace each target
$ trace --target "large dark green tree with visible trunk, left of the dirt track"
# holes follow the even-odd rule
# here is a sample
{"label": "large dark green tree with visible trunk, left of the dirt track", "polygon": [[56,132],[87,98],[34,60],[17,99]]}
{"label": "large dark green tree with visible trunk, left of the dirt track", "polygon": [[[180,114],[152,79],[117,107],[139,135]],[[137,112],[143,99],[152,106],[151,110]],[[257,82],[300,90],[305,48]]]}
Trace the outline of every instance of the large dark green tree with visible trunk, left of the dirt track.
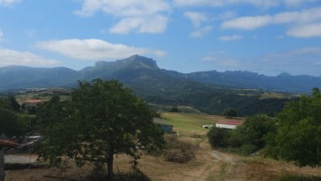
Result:
{"label": "large dark green tree with visible trunk, left of the dirt track", "polygon": [[161,128],[152,122],[156,112],[115,80],[79,82],[70,101],[53,98],[40,110],[45,128],[39,156],[54,164],[65,157],[78,166],[107,164],[111,179],[115,154],[126,153],[136,164],[139,149],[164,144]]}

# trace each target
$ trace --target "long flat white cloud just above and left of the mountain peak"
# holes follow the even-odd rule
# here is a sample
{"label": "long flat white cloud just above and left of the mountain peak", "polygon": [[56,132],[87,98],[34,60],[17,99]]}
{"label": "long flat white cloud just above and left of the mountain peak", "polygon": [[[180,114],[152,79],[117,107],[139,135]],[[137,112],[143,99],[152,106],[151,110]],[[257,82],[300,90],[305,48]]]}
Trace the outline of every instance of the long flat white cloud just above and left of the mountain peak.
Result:
{"label": "long flat white cloud just above and left of the mountain peak", "polygon": [[124,58],[133,54],[153,54],[164,56],[161,50],[134,47],[122,44],[111,44],[100,39],[63,39],[38,42],[37,48],[60,53],[64,56],[80,60],[103,60],[108,58]]}

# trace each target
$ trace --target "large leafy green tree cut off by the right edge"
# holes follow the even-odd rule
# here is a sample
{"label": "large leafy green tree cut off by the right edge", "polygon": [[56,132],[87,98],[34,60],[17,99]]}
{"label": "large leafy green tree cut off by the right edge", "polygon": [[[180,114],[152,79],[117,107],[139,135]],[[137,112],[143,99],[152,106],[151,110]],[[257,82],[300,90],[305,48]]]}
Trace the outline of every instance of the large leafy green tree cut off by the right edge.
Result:
{"label": "large leafy green tree cut off by the right edge", "polygon": [[294,161],[300,166],[321,165],[321,93],[302,95],[299,102],[286,103],[277,116],[278,130],[268,136],[268,155]]}

